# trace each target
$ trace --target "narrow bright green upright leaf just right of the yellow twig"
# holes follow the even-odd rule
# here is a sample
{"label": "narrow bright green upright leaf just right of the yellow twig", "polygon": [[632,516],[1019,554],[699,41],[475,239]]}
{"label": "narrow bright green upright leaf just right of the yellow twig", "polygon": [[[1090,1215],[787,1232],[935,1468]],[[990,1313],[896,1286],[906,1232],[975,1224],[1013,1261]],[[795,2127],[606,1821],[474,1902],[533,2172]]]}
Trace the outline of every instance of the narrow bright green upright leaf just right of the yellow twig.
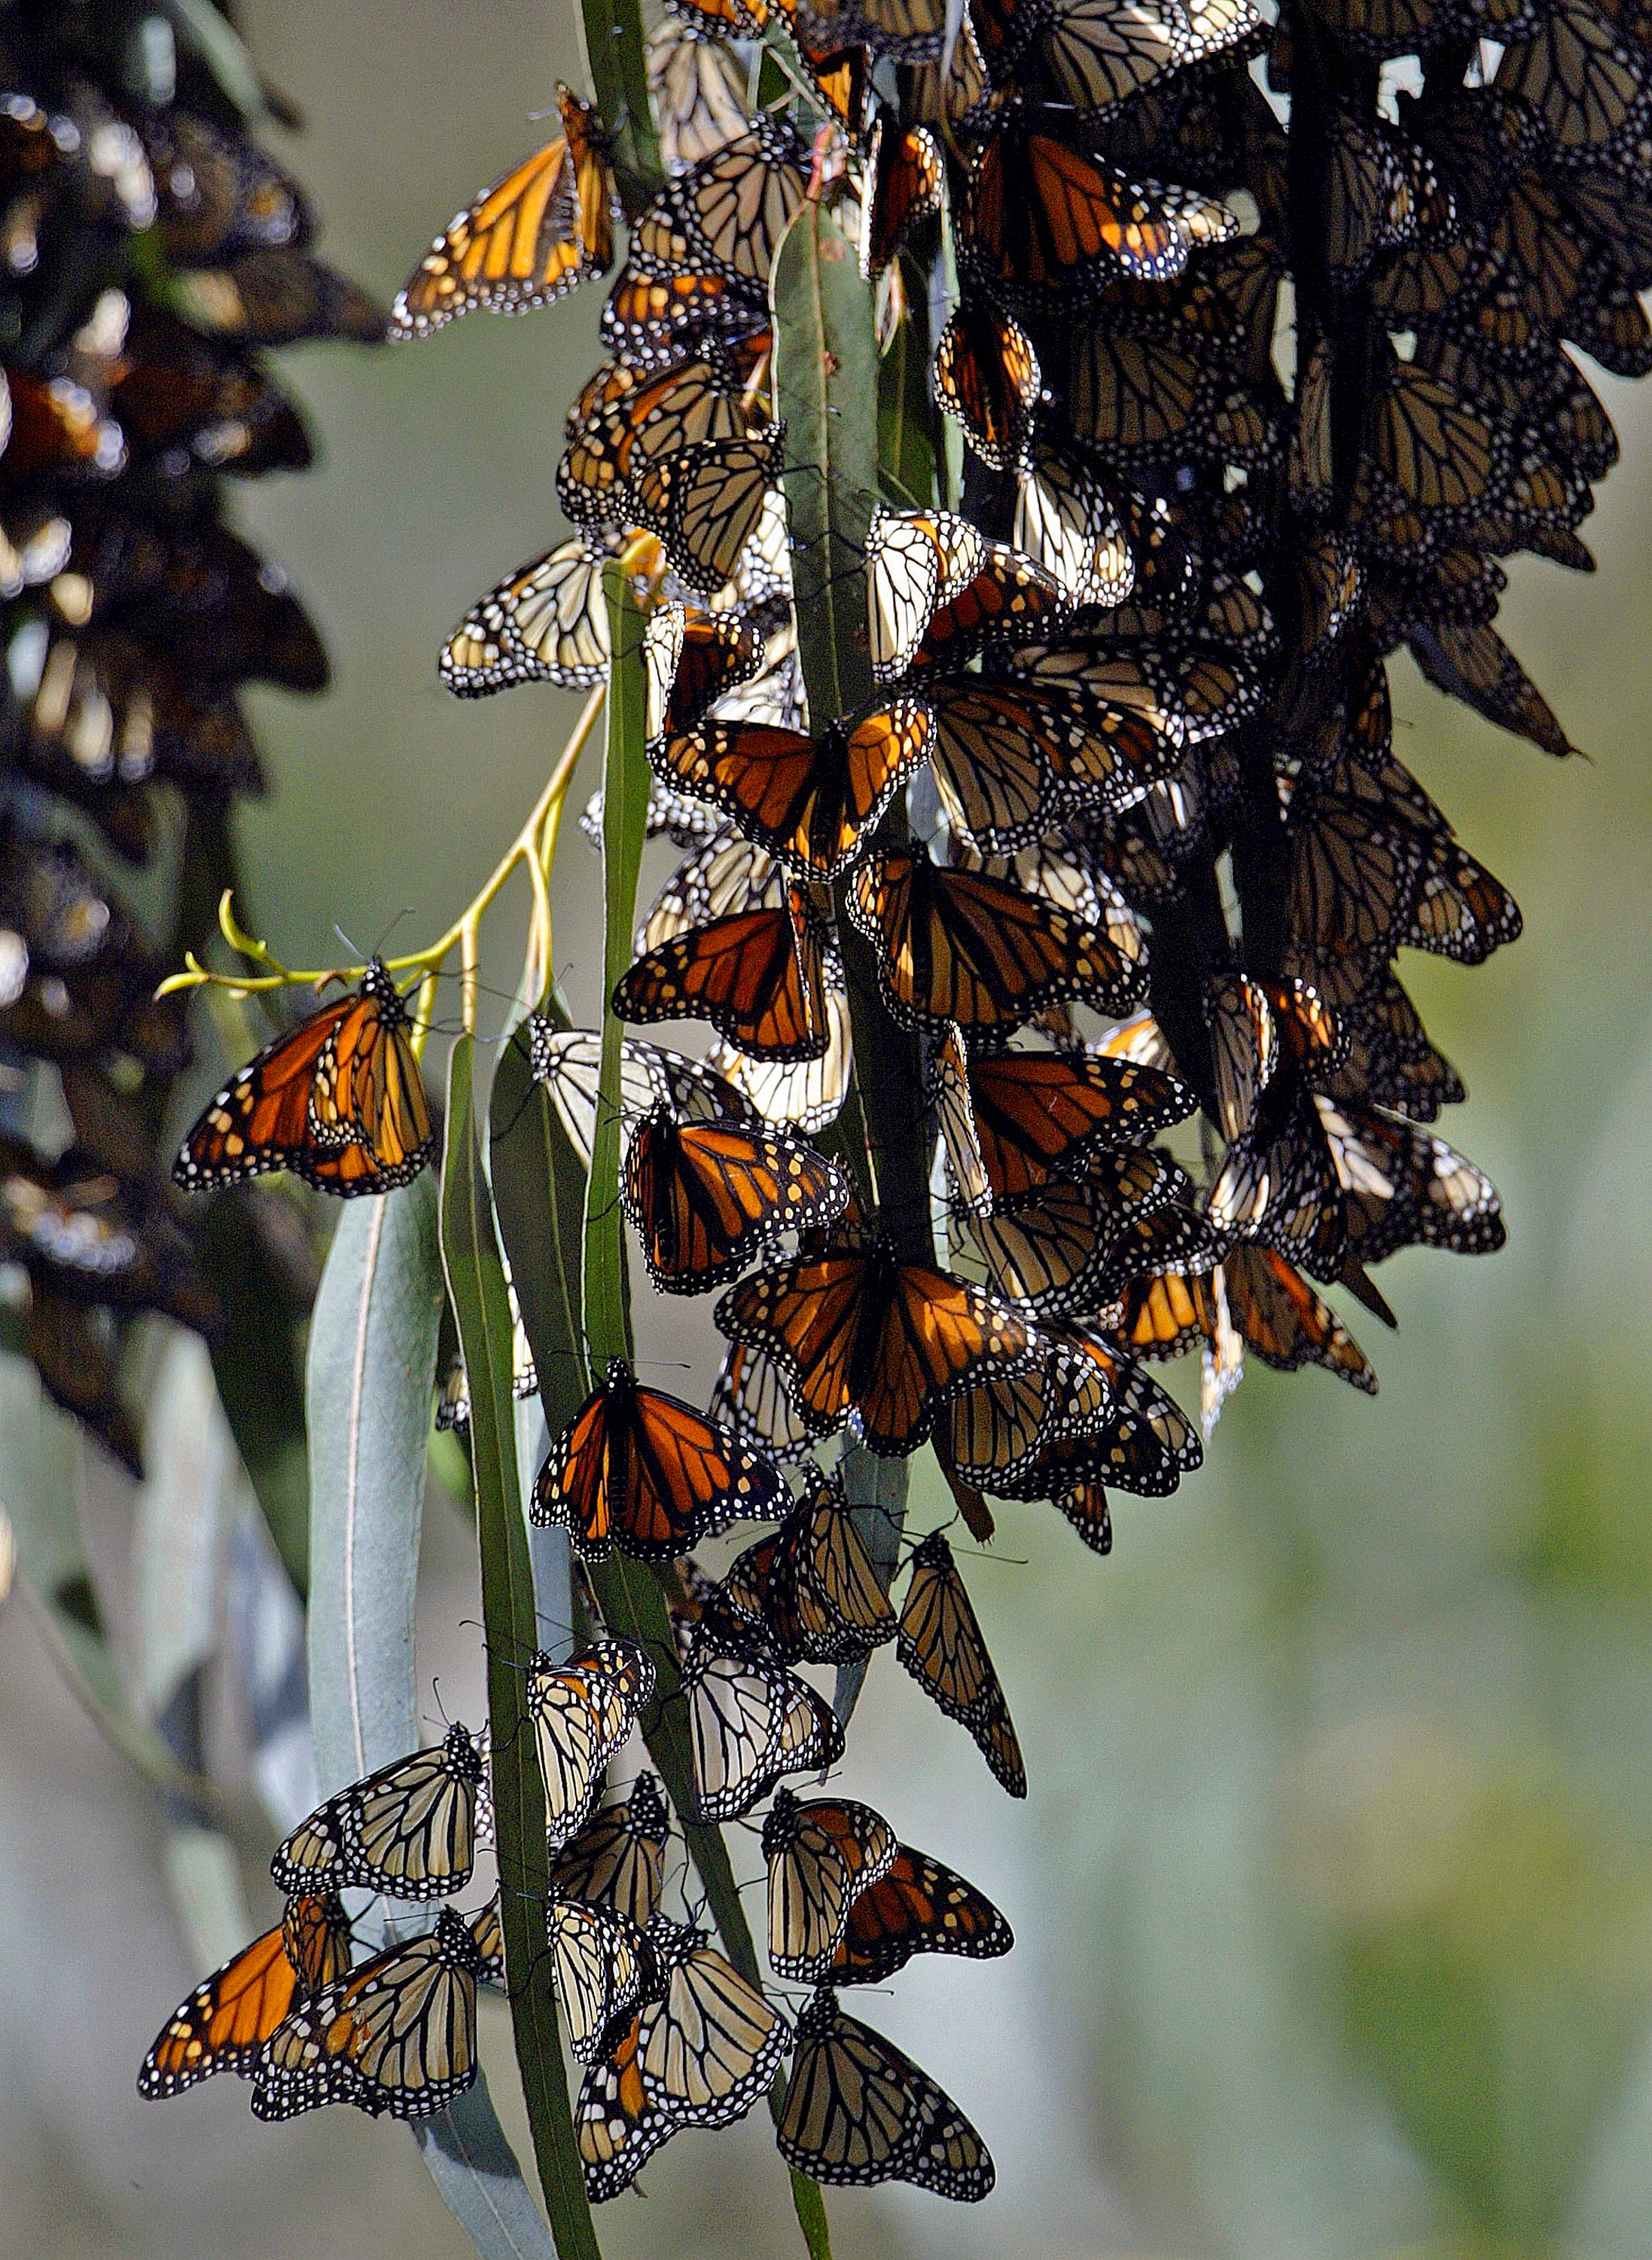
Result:
{"label": "narrow bright green upright leaf just right of the yellow twig", "polygon": [[637,870],[649,827],[646,678],[642,610],[617,558],[603,565],[608,603],[608,757],[603,762],[603,1044],[597,1132],[585,1189],[585,1342],[597,1376],[631,1356],[626,1227],[619,1216],[619,1046],[612,992],[631,965]]}

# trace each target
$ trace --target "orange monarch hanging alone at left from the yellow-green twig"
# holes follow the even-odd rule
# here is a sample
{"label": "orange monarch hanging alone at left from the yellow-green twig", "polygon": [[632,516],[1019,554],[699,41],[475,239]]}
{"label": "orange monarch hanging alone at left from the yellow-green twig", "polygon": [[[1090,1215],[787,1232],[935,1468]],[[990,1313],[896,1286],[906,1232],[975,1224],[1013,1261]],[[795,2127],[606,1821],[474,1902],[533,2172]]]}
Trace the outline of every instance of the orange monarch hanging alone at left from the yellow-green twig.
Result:
{"label": "orange monarch hanging alone at left from the yellow-green twig", "polygon": [[402,997],[373,958],[353,997],[323,1006],[224,1085],[185,1137],[188,1193],[289,1168],[321,1193],[389,1193],[436,1150]]}

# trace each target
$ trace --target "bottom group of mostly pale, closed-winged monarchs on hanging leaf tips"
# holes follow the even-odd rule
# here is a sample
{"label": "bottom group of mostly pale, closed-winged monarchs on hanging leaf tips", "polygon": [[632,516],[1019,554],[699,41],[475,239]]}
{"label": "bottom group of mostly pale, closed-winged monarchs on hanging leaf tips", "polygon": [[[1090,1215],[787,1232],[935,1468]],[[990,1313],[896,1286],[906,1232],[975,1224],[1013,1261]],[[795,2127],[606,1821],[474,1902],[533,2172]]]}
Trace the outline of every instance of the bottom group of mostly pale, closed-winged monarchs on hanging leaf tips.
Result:
{"label": "bottom group of mostly pale, closed-winged monarchs on hanging leaf tips", "polygon": [[[843,1521],[852,1539],[852,1523]],[[870,1587],[877,1593],[877,1587]],[[881,1593],[877,1593],[881,1602]],[[719,1666],[673,1702],[725,1765],[698,1772],[692,1819],[744,1813],[780,1774],[820,1761],[805,1681]],[[777,1980],[809,1987],[795,2020],[766,1998],[694,1923],[662,1912],[671,1815],[651,1772],[601,1803],[606,1767],[655,1695],[642,1648],[601,1638],[524,1668],[549,1833],[545,1959],[572,2054],[583,2066],[574,2131],[592,2199],[628,2188],[642,2165],[692,2127],[728,2127],[791,2079],[777,2115],[786,2161],[820,2181],[899,2174],[945,2197],[992,2188],[992,2158],[958,2106],[902,2050],[850,2016],[843,1987],[881,1984],[918,1953],[994,1957],[1010,1950],[999,1910],[963,1876],[902,1844],[870,1806],[798,1799],[777,1788],[762,1826],[768,1959]],[[775,1702],[807,1713],[768,1747]],[[841,1749],[841,1736],[836,1747]],[[233,2070],[253,2084],[253,2113],[294,2118],[348,2102],[393,2118],[447,2109],[477,2077],[477,1987],[504,1984],[499,1896],[353,1962],[341,1892],[398,1903],[450,1898],[493,1844],[488,1736],[454,1724],[330,1797],[276,1851],[282,1921],[206,1977],[167,2018],[138,2072],[145,2097],[179,2095]],[[502,1887],[506,1887],[502,1883]]]}

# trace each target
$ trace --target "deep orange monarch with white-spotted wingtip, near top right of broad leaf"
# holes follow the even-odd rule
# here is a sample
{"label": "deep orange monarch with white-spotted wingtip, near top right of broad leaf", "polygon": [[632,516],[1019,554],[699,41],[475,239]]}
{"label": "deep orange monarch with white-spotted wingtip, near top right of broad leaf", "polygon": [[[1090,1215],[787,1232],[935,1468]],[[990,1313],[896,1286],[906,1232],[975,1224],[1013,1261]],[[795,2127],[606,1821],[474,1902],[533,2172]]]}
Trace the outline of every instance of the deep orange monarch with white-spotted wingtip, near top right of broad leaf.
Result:
{"label": "deep orange monarch with white-spotted wingtip, near top right of broad leaf", "polygon": [[[1173,194],[1134,185],[1024,122],[1001,120],[970,179],[967,255],[992,289],[1051,301],[1083,289],[1107,267],[1171,282],[1198,233],[1236,235],[1223,206],[1184,217]],[[1220,217],[1229,224],[1223,228]]]}

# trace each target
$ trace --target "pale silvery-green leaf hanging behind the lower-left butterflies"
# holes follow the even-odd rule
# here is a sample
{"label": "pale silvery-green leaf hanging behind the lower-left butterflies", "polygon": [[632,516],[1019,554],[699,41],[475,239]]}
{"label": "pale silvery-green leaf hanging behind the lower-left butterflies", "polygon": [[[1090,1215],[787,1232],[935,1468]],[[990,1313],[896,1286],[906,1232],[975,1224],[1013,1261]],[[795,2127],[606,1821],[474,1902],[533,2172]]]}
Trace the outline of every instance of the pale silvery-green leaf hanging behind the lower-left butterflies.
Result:
{"label": "pale silvery-green leaf hanging behind the lower-left butterflies", "polygon": [[[432,1177],[350,1202],[310,1329],[310,1715],[325,1790],[418,1742],[414,1587],[441,1293]],[[556,2260],[486,2077],[414,2133],[484,2260]]]}

